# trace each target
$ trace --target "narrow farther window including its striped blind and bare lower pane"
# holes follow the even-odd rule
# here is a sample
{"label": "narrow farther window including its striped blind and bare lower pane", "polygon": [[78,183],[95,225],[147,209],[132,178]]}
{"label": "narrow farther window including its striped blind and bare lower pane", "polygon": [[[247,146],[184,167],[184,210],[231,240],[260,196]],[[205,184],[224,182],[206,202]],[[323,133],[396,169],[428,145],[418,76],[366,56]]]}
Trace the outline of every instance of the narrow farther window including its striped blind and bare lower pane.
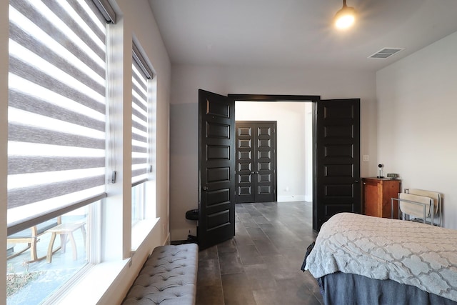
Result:
{"label": "narrow farther window including its striped blind and bare lower pane", "polygon": [[134,44],[132,50],[132,226],[145,217],[145,182],[153,171],[151,141],[151,79],[153,73]]}

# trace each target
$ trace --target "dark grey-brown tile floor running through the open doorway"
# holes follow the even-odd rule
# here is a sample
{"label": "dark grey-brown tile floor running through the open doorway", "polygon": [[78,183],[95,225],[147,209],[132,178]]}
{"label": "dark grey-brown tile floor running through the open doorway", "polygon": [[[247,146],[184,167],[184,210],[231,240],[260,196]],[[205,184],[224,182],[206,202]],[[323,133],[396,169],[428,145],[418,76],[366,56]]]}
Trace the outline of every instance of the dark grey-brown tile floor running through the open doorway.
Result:
{"label": "dark grey-brown tile floor running through the open doorway", "polygon": [[315,238],[309,202],[236,204],[236,236],[199,253],[196,304],[323,304],[300,270]]}

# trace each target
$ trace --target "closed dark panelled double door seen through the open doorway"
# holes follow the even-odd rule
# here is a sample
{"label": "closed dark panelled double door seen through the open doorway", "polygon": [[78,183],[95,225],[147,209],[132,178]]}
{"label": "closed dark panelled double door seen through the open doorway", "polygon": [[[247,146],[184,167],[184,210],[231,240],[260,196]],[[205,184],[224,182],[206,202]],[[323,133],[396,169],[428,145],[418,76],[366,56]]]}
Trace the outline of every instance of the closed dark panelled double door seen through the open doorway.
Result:
{"label": "closed dark panelled double door seen through the open doorway", "polygon": [[236,203],[276,196],[276,121],[237,121]]}

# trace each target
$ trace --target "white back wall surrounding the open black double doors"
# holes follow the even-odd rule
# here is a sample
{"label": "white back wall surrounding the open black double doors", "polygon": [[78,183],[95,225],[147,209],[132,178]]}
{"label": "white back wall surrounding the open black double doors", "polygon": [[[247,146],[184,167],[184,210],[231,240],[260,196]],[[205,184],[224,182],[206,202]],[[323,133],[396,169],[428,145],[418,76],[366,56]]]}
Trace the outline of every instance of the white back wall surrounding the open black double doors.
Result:
{"label": "white back wall surrounding the open black double doors", "polygon": [[172,66],[170,138],[171,239],[196,234],[185,219],[199,205],[198,90],[217,94],[320,95],[322,99],[361,99],[361,175],[376,176],[376,75],[366,71],[252,68],[247,66]]}

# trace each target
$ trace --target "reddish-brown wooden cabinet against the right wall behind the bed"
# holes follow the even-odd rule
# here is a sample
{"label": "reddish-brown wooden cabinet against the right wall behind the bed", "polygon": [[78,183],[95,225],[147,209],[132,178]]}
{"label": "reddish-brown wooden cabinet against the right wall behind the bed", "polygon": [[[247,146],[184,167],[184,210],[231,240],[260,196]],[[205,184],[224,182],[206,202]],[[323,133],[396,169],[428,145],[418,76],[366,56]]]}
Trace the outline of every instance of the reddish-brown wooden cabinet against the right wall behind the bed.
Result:
{"label": "reddish-brown wooden cabinet against the right wall behind the bed", "polygon": [[[391,218],[391,198],[400,192],[400,180],[362,178],[363,214]],[[393,217],[398,219],[398,201],[393,202]]]}

